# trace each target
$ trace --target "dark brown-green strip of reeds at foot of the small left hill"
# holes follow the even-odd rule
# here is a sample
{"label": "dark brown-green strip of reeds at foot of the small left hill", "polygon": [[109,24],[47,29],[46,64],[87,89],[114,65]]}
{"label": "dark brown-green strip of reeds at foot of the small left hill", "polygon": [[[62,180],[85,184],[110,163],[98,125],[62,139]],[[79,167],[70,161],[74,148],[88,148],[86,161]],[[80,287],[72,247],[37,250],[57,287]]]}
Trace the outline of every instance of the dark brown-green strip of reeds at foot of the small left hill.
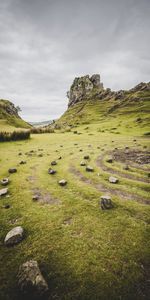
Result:
{"label": "dark brown-green strip of reeds at foot of the small left hill", "polygon": [[30,131],[13,131],[13,132],[0,132],[0,142],[27,140],[30,138]]}

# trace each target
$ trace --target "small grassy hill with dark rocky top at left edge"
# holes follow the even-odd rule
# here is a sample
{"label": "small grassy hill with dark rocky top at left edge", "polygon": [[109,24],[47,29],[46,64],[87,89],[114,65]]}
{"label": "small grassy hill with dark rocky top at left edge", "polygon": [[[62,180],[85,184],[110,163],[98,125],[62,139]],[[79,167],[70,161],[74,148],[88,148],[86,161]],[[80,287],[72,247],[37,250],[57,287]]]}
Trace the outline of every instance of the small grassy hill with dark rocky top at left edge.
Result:
{"label": "small grassy hill with dark rocky top at left edge", "polygon": [[0,99],[0,130],[13,130],[15,128],[31,128],[31,125],[21,119],[19,108],[8,100]]}

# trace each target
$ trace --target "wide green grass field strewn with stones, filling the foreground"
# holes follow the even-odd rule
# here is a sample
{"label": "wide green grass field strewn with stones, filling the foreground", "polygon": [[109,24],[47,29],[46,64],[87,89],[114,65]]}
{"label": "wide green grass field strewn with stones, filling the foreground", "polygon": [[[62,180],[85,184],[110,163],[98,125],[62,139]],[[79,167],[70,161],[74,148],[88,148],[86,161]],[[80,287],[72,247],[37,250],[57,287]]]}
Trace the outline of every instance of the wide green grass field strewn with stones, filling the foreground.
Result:
{"label": "wide green grass field strewn with stones, filling the foreground", "polygon": [[[78,126],[79,134],[58,130],[0,144],[0,177],[17,167],[9,176],[10,197],[0,199],[1,300],[20,300],[18,268],[29,259],[38,261],[49,299],[149,298],[148,165],[136,163],[134,155],[129,170],[122,160],[106,162],[116,147],[115,151],[129,147],[129,152],[148,155],[148,126],[139,127],[134,119],[130,126],[127,118],[118,116],[101,125]],[[80,166],[86,154],[93,173]],[[20,165],[21,160],[27,163]],[[48,168],[53,160],[57,173],[52,176]],[[108,181],[112,174],[119,179],[116,185]],[[67,180],[65,187],[58,185],[60,179]],[[36,193],[40,200],[34,202]],[[112,197],[113,209],[101,210],[103,194]],[[3,208],[6,203],[9,209]],[[25,239],[7,248],[5,235],[17,225],[25,229]]]}

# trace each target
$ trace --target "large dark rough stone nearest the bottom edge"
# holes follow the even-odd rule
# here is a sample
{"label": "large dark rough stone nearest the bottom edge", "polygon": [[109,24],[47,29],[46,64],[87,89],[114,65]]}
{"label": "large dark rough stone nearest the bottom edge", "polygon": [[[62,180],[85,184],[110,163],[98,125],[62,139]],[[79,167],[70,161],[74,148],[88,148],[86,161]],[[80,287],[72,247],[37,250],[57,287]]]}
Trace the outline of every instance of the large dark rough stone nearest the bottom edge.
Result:
{"label": "large dark rough stone nearest the bottom edge", "polygon": [[48,293],[48,284],[37,261],[30,260],[22,264],[17,277],[19,289],[24,296],[29,299],[45,299]]}

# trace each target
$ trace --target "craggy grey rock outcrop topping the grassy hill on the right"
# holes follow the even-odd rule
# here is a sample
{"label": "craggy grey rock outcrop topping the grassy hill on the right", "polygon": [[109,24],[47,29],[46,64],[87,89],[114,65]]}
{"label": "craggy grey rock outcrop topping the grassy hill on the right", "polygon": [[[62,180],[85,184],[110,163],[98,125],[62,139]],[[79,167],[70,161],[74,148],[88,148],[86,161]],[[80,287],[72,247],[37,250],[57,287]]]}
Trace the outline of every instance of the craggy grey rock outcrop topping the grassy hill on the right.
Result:
{"label": "craggy grey rock outcrop topping the grassy hill on the right", "polygon": [[103,90],[103,83],[100,82],[99,74],[94,74],[91,77],[89,75],[76,77],[71,85],[70,91],[67,92],[69,98],[68,107],[82,101],[84,98],[88,98],[92,90]]}

